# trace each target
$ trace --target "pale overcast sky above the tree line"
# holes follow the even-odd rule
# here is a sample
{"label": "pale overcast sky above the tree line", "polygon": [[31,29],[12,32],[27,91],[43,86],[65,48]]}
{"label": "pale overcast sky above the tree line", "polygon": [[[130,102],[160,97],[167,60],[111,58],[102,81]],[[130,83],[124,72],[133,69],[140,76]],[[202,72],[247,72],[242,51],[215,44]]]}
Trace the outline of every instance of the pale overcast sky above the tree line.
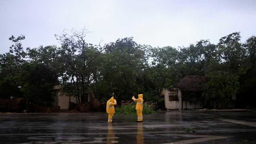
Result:
{"label": "pale overcast sky above the tree line", "polygon": [[23,34],[24,48],[59,45],[63,29],[91,31],[87,42],[134,37],[153,47],[188,46],[200,39],[218,43],[241,32],[256,35],[256,0],[0,0],[0,53]]}

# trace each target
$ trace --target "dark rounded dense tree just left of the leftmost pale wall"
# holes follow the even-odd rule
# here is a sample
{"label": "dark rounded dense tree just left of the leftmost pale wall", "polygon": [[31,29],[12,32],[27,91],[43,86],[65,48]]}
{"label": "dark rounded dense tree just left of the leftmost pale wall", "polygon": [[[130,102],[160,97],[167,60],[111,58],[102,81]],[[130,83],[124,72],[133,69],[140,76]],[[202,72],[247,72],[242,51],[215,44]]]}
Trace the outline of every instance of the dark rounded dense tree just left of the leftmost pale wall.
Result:
{"label": "dark rounded dense tree just left of the leftmost pale wall", "polygon": [[24,96],[36,105],[51,106],[52,87],[59,83],[58,76],[50,67],[39,63],[24,63],[22,65],[19,85]]}

